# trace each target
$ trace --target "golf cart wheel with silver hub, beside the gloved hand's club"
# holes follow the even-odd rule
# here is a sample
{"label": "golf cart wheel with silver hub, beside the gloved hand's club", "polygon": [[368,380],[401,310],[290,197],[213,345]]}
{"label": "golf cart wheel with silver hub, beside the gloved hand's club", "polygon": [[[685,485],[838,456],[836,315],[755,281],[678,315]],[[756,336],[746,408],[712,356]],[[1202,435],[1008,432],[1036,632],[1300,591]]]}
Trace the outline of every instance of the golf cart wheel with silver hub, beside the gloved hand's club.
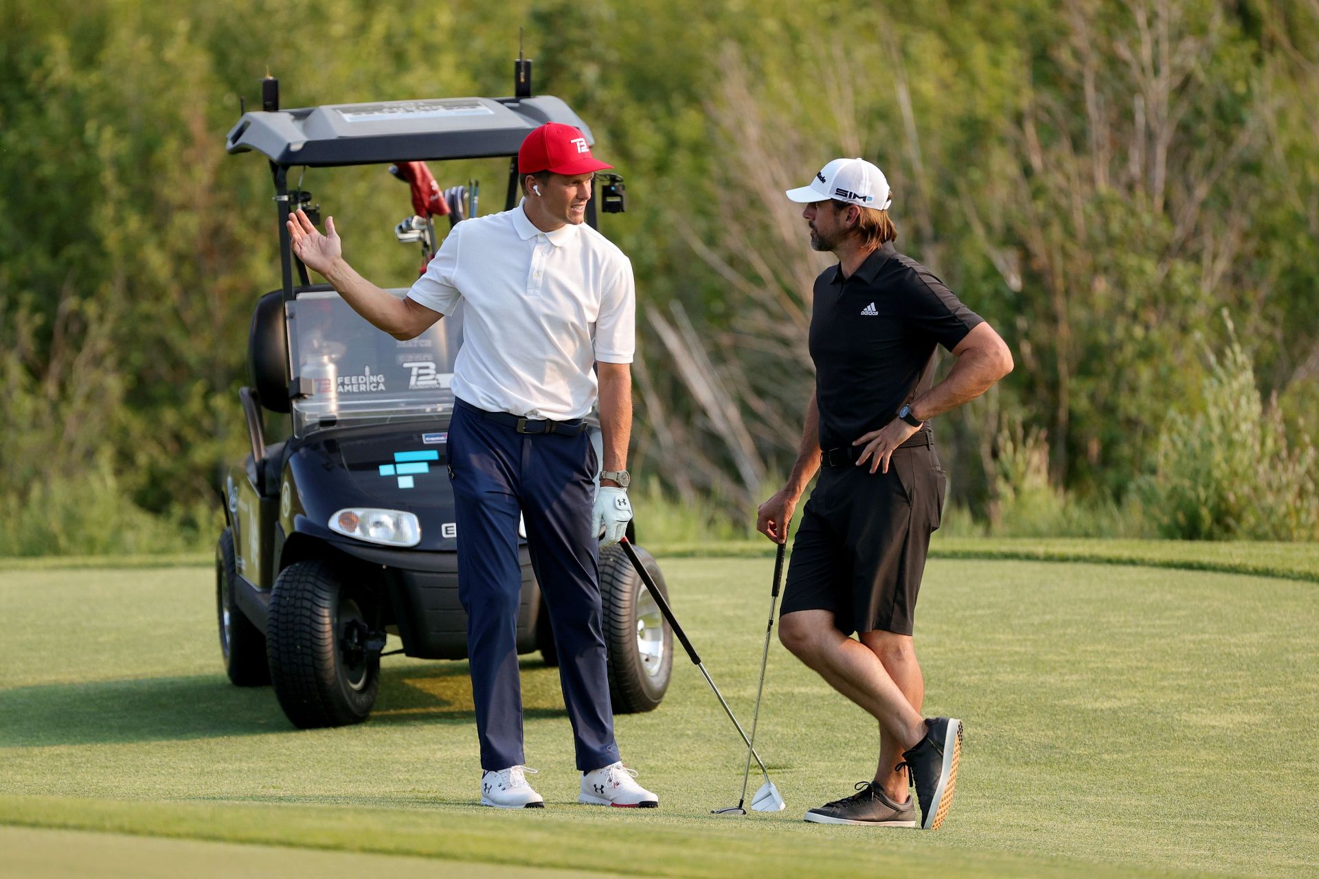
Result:
{"label": "golf cart wheel with silver hub, beside the gloved hand's club", "polygon": [[[654,557],[634,547],[656,585],[669,597]],[[604,643],[609,651],[609,700],[615,714],[654,710],[669,689],[673,671],[673,630],[623,547],[600,551],[600,598],[604,604]]]}

